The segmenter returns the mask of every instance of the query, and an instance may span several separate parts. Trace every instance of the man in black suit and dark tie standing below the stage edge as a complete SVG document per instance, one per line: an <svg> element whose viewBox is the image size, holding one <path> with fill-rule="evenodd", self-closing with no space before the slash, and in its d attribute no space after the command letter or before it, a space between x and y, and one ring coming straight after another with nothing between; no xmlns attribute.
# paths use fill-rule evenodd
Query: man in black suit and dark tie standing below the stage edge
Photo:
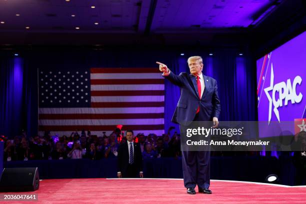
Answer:
<svg viewBox="0 0 306 204"><path fill-rule="evenodd" d="M143 177L142 154L138 143L133 142L134 133L126 131L126 142L118 148L117 176L118 178Z"/></svg>

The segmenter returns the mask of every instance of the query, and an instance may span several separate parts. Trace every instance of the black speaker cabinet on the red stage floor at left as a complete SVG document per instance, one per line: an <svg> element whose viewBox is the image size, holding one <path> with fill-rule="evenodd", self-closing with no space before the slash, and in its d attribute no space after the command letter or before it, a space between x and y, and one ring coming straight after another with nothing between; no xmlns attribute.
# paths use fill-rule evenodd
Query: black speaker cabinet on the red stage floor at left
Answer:
<svg viewBox="0 0 306 204"><path fill-rule="evenodd" d="M4 168L0 179L1 192L34 191L39 188L37 167Z"/></svg>

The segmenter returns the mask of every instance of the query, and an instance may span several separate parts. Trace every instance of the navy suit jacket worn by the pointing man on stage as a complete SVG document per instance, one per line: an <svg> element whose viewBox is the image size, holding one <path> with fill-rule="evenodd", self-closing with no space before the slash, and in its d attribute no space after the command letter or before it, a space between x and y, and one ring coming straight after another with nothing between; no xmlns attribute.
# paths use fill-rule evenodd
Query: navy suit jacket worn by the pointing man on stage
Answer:
<svg viewBox="0 0 306 204"><path fill-rule="evenodd" d="M172 122L188 125L194 119L198 105L202 121L211 121L212 117L219 117L221 107L214 78L203 75L205 88L199 98L194 75L186 72L175 75L170 71L170 74L164 77L180 87L180 97L171 119Z"/></svg>

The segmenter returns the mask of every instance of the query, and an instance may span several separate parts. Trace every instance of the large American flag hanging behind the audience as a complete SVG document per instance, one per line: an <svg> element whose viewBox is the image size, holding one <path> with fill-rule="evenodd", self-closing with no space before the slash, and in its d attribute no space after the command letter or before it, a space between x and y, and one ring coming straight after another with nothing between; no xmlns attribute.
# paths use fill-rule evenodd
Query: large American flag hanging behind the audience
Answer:
<svg viewBox="0 0 306 204"><path fill-rule="evenodd" d="M38 70L38 133L76 129L107 135L117 124L134 134L164 133L164 79L158 68Z"/></svg>

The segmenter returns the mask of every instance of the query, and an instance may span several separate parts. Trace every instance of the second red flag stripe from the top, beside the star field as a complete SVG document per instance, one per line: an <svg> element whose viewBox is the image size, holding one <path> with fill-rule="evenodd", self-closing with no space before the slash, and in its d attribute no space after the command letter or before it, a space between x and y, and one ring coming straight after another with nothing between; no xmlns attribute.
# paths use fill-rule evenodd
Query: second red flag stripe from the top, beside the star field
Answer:
<svg viewBox="0 0 306 204"><path fill-rule="evenodd" d="M90 79L92 85L96 84L163 84L163 78L137 78L137 79Z"/></svg>

